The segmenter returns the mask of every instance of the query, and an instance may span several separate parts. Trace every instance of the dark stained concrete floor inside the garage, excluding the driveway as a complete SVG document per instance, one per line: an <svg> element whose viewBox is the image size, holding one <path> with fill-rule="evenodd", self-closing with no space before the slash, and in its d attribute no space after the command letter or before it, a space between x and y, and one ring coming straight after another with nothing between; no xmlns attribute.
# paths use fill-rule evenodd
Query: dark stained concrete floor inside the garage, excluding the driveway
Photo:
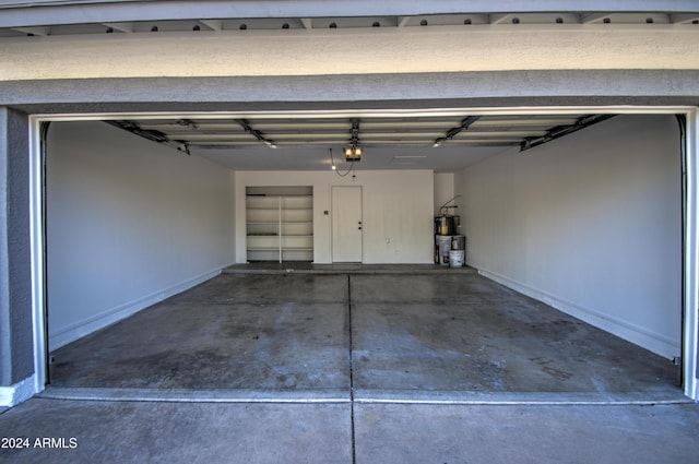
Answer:
<svg viewBox="0 0 699 464"><path fill-rule="evenodd" d="M670 360L475 273L224 274L54 356L54 390L682 395Z"/></svg>

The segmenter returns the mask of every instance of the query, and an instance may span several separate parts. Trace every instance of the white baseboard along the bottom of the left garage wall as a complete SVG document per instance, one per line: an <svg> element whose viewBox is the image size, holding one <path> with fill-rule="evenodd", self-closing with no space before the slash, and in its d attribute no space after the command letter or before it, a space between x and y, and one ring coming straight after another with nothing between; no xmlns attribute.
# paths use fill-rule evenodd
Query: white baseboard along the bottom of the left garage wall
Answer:
<svg viewBox="0 0 699 464"><path fill-rule="evenodd" d="M83 321L76 322L61 330L58 330L55 333L49 335L49 341L48 341L49 352L54 349L58 349L61 346L68 345L69 343L74 342L78 338L81 338L109 324L112 324L122 319L126 319L150 306L153 306L171 296L175 296L199 284L202 284L209 281L210 278L213 278L220 275L222 271L226 267L227 265L224 267L216 269L214 271L209 271L203 274L199 274L185 282L180 282L173 286L149 294L144 297L126 302L123 305L119 305L118 307L108 309L88 319L85 319Z"/></svg>

